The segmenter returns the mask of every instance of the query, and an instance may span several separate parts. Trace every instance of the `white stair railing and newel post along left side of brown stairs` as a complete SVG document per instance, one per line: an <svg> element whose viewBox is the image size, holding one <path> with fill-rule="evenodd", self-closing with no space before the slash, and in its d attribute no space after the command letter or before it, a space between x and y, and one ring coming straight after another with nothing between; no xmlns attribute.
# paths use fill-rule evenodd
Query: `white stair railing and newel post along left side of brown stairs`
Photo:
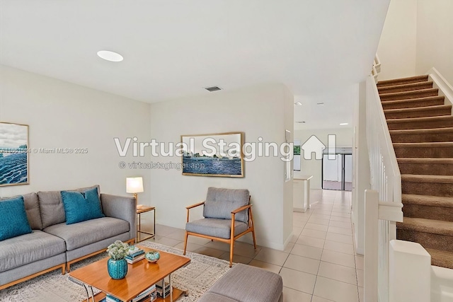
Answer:
<svg viewBox="0 0 453 302"><path fill-rule="evenodd" d="M373 71L377 72L376 64L380 65L377 56L373 67ZM389 243L390 240L396 239L396 221L403 221L401 210L403 204L401 203L401 173L376 82L377 74L372 74L366 83L367 146L371 187L374 192L369 193L372 197L365 197L364 295L366 302L388 302ZM369 209L371 206L367 209L367 197L376 199L371 210ZM375 223L378 223L377 228Z"/></svg>

